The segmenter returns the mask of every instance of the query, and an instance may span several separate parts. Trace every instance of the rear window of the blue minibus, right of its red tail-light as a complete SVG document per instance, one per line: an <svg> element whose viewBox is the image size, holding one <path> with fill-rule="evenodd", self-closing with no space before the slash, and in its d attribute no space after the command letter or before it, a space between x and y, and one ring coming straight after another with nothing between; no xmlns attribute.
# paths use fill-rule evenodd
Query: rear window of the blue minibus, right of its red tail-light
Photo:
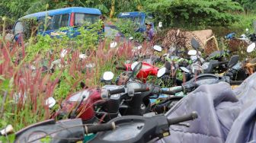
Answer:
<svg viewBox="0 0 256 143"><path fill-rule="evenodd" d="M95 14L75 14L75 26L82 26L86 22L94 24L100 19L100 15Z"/></svg>

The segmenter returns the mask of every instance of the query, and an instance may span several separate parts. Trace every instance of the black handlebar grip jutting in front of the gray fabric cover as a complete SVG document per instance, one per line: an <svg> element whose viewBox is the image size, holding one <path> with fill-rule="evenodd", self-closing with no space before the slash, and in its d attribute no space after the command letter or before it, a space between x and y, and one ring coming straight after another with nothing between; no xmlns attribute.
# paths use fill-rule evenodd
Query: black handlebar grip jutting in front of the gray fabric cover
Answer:
<svg viewBox="0 0 256 143"><path fill-rule="evenodd" d="M168 119L168 124L170 125L174 125L174 124L178 124L179 122L185 122L185 121L189 121L189 120L193 120L193 119L197 119L198 115L197 112L192 112L188 115L185 116L180 116L177 118L173 118L173 119Z"/></svg>

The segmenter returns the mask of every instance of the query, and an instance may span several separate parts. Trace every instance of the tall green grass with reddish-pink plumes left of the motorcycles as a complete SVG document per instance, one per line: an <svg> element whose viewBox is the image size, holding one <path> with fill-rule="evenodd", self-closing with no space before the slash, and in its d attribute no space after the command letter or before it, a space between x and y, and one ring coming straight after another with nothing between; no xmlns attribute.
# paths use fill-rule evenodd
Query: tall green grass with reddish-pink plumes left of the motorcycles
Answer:
<svg viewBox="0 0 256 143"><path fill-rule="evenodd" d="M27 49L30 47L0 40L0 103L3 109L0 129L11 124L18 131L48 119L51 112L45 103L48 97L54 97L57 103L61 103L68 95L81 90L80 82L88 87L101 87L100 78L104 71L113 71L118 75L120 71L116 71L114 62L123 63L134 56L133 43L120 43L117 48L111 49L109 40L103 40L86 59L79 59L81 49L69 48L67 55L61 59L61 68L55 68L54 72L42 72L42 59L47 59L48 65L51 65L54 59L59 58L61 47L57 46L51 48L53 55L35 52L34 56L30 56L34 58L27 60ZM88 64L95 66L88 68ZM29 68L31 65L36 69Z"/></svg>

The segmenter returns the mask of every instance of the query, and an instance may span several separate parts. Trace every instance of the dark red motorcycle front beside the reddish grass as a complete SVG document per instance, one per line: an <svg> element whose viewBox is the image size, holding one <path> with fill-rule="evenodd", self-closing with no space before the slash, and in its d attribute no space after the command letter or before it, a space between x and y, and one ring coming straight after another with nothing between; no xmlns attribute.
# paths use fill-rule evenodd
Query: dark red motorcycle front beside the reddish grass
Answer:
<svg viewBox="0 0 256 143"><path fill-rule="evenodd" d="M81 118L85 122L94 122L96 120L100 120L99 122L102 122L107 116L107 113L112 116L117 116L113 115L118 111L118 108L116 109L114 103L113 108L111 108L112 105L107 104L107 102L111 101L110 96L112 94L124 92L117 89L117 87L119 86L111 85L111 87L107 88L88 88L78 91L67 97L66 100L62 102L60 109L52 116L52 118ZM101 109L99 109L101 110L100 113L95 112L95 107L98 104L101 104ZM111 116L108 117L111 119Z"/></svg>

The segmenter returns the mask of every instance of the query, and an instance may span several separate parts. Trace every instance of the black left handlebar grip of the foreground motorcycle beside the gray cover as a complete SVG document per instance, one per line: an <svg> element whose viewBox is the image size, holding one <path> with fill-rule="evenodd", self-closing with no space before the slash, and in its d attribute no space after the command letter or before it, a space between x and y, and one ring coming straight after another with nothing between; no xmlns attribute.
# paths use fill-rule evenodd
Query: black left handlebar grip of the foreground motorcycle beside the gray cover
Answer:
<svg viewBox="0 0 256 143"><path fill-rule="evenodd" d="M94 126L85 126L85 134L90 134L94 132L102 132L116 129L116 125L114 122L99 124Z"/></svg>

